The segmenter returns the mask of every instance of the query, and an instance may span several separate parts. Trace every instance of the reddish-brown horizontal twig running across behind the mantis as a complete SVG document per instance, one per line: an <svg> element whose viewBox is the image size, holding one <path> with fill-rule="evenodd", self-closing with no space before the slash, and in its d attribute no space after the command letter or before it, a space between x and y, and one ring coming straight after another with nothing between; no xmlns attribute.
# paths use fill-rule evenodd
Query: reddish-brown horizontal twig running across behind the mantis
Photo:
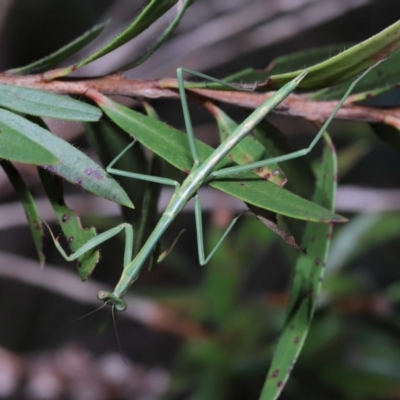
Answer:
<svg viewBox="0 0 400 400"><path fill-rule="evenodd" d="M42 74L16 76L7 73L0 74L0 83L40 89L53 93L84 96L89 89L97 90L104 95L120 95L148 99L173 98L178 99L176 90L165 87L165 82L173 86L174 79L132 80L123 75L108 75L92 79L65 79L47 81ZM254 109L260 106L273 92L254 93L244 91L224 91L211 89L190 89L203 99L233 104L239 107ZM302 117L309 121L324 121L332 113L337 101L312 101L301 95L290 95L274 112L291 117ZM370 123L385 123L400 128L400 108L373 108L357 104L346 104L336 114L336 119L362 121Z"/></svg>

